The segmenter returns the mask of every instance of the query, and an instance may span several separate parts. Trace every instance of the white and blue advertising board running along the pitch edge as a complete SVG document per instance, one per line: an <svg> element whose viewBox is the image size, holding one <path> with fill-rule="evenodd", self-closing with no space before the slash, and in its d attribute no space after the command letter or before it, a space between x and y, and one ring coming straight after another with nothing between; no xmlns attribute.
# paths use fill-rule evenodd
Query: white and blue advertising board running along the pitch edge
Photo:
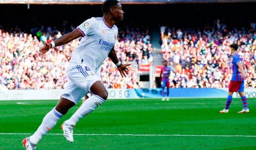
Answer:
<svg viewBox="0 0 256 150"><path fill-rule="evenodd" d="M138 99L140 97L161 98L161 88L156 89L107 89L108 99ZM2 90L0 100L58 100L63 89L54 90ZM166 91L166 89L165 89ZM246 97L256 97L256 88L246 88ZM171 98L226 98L228 88L220 89L170 89ZM240 97L234 93L233 97Z"/></svg>

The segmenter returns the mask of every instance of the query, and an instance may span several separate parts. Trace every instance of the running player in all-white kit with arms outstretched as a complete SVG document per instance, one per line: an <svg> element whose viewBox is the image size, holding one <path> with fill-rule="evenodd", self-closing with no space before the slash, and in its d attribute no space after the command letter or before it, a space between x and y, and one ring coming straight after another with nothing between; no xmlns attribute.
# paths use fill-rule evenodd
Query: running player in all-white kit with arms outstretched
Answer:
<svg viewBox="0 0 256 150"><path fill-rule="evenodd" d="M26 150L34 150L39 140L56 125L57 121L82 99L86 91L90 91L94 95L90 96L72 117L61 125L67 141L74 141L73 129L76 123L103 104L108 97L108 91L100 77L96 75L107 56L116 64L122 77L128 74L128 66L131 64L122 64L114 49L118 33L115 23L122 21L124 17L122 5L117 0L106 0L102 4L102 12L103 17L85 20L74 31L62 35L54 42L45 43L45 46L40 49L42 56L50 48L67 44L80 36L83 37L69 61L67 76L70 81L59 102L46 114L37 131L22 141Z"/></svg>

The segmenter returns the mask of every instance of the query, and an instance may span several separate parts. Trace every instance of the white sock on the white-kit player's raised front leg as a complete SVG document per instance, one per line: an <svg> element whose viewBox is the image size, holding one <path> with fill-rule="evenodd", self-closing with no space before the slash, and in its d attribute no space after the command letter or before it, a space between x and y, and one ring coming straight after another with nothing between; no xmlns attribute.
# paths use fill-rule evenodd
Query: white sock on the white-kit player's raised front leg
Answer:
<svg viewBox="0 0 256 150"><path fill-rule="evenodd" d="M84 104L76 110L75 114L73 114L70 119L66 120L66 123L75 125L81 118L84 118L86 115L90 114L90 112L94 111L95 108L97 108L104 102L105 100L98 95L93 95L89 97L84 102Z"/></svg>

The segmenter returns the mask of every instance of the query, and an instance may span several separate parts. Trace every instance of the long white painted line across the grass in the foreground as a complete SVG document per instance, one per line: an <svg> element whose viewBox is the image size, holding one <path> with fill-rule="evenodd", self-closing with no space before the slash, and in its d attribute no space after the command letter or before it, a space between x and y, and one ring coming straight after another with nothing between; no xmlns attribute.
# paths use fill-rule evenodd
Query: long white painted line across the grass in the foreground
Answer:
<svg viewBox="0 0 256 150"><path fill-rule="evenodd" d="M0 133L0 134L31 134L31 133ZM53 134L48 133L50 135L63 135L63 134ZM109 136L224 136L224 137L256 137L256 135L180 135L180 134L171 134L171 135L163 135L163 134L73 134L73 135L109 135Z"/></svg>

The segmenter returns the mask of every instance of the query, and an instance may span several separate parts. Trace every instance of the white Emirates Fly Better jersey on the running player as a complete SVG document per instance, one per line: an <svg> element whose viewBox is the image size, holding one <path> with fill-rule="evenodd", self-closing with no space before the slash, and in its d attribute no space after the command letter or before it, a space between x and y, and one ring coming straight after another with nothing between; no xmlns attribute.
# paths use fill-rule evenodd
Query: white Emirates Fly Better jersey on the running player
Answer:
<svg viewBox="0 0 256 150"><path fill-rule="evenodd" d="M111 27L106 24L103 17L91 17L76 29L84 37L74 50L67 71L77 63L81 63L83 59L89 69L96 73L116 43L118 28L115 25Z"/></svg>

